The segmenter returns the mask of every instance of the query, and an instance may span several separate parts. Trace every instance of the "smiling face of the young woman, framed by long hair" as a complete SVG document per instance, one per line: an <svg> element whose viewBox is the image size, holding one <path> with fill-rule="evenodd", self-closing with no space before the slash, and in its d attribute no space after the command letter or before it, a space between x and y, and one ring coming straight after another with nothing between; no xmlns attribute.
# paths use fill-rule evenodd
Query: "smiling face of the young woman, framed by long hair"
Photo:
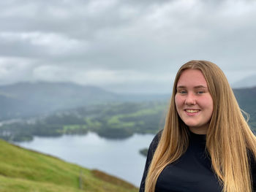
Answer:
<svg viewBox="0 0 256 192"><path fill-rule="evenodd" d="M195 134L206 134L214 110L211 94L203 73L186 69L181 73L175 96L176 110L181 120Z"/></svg>

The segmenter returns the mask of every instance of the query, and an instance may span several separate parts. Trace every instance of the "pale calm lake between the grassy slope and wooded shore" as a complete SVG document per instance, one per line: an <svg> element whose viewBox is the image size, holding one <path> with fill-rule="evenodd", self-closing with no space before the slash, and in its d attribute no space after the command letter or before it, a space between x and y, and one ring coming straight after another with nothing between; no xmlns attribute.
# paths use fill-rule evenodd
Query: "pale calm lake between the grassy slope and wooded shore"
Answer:
<svg viewBox="0 0 256 192"><path fill-rule="evenodd" d="M128 139L105 139L89 132L83 136L34 137L31 142L15 144L89 169L99 169L139 186L146 162L139 150L148 147L153 137L134 134Z"/></svg>

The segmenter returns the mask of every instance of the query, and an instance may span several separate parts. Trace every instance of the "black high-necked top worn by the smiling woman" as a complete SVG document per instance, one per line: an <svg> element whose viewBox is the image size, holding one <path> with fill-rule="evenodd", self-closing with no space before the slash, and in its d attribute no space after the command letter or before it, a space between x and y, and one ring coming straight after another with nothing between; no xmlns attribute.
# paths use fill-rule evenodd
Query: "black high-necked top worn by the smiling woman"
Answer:
<svg viewBox="0 0 256 192"><path fill-rule="evenodd" d="M140 192L144 192L148 166L153 158L161 132L154 137L148 149L146 166L140 183ZM256 189L256 164L252 161L253 187ZM189 147L177 161L168 164L159 174L155 192L221 192L217 176L211 169L211 158L206 151L206 135L189 131Z"/></svg>

